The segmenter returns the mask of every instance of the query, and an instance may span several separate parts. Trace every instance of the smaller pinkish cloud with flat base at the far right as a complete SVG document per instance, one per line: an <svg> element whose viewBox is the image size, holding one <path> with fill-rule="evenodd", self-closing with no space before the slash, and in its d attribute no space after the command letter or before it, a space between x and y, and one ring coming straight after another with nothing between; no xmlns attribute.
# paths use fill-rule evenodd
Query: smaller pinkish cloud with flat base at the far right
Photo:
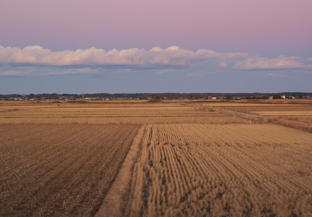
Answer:
<svg viewBox="0 0 312 217"><path fill-rule="evenodd" d="M312 68L312 65L305 65L299 59L299 57L285 55L274 59L251 55L246 60L236 62L233 68L241 70Z"/></svg>

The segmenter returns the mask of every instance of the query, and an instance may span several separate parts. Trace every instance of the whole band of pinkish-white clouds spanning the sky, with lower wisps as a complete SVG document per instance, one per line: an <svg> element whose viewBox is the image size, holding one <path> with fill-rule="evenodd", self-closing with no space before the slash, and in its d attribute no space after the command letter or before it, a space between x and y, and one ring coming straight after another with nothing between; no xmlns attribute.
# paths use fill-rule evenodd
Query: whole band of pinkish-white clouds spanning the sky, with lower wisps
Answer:
<svg viewBox="0 0 312 217"><path fill-rule="evenodd" d="M311 59L308 59L311 61ZM208 63L210 63L210 65ZM32 68L13 69L25 65ZM196 52L171 46L166 49L154 47L150 50L131 48L124 50L88 48L76 51L65 50L52 52L41 46L17 47L0 46L0 66L9 65L0 71L0 76L40 75L34 67L45 67L41 74L98 74L98 69L113 70L163 70L181 69L190 66L206 68L228 68L233 70L275 70L275 69L312 69L312 65L303 63L299 57L264 58L248 53L225 53L199 49ZM213 65L213 66L211 66ZM77 70L56 70L59 68L77 68ZM47 69L49 68L49 69ZM0 68L1 69L1 68ZM104 71L105 71L104 70ZM191 76L192 74L189 74Z"/></svg>

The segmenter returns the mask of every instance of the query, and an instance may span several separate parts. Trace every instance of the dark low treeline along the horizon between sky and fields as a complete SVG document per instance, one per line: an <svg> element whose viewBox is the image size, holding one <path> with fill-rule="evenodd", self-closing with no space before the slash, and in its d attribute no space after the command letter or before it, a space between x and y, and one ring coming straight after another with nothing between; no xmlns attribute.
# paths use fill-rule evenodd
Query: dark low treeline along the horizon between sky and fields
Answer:
<svg viewBox="0 0 312 217"><path fill-rule="evenodd" d="M85 94L69 94L69 93L40 93L40 94L0 94L2 100L5 99L79 99L79 98L94 98L94 99L104 99L104 98L168 98L168 99L178 99L178 98L244 98L244 99L267 99L270 96L282 96L287 97L307 97L312 96L312 93L305 92L282 92L282 93L85 93Z"/></svg>

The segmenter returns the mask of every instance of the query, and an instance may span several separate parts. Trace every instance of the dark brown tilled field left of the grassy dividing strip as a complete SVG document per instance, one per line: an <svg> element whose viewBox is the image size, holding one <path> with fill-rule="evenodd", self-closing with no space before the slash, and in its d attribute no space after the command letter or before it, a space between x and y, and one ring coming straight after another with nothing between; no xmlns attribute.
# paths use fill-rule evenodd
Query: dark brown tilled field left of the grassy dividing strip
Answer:
<svg viewBox="0 0 312 217"><path fill-rule="evenodd" d="M93 216L139 125L0 125L0 216Z"/></svg>

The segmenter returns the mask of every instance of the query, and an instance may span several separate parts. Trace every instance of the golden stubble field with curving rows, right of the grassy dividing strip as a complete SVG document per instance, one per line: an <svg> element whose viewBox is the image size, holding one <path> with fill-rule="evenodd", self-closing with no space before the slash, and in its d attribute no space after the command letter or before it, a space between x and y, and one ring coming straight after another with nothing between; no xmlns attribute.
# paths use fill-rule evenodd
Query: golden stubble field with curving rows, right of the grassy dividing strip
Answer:
<svg viewBox="0 0 312 217"><path fill-rule="evenodd" d="M310 216L312 134L269 124L149 124L127 216Z"/></svg>

